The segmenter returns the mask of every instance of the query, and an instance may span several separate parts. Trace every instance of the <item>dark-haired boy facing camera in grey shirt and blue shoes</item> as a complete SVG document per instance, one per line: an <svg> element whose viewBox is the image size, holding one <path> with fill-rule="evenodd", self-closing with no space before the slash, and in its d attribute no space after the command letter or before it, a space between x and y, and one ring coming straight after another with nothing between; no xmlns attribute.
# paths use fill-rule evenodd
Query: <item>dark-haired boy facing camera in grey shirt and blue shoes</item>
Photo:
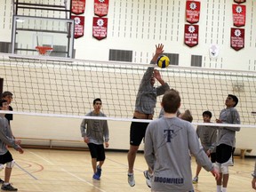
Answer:
<svg viewBox="0 0 256 192"><path fill-rule="evenodd" d="M100 111L101 107L102 102L100 98L93 100L94 110L86 114L86 116L105 116L105 114ZM80 126L80 130L82 137L84 137L84 142L87 143L92 156L92 178L94 180L100 180L101 167L106 158L103 145L104 142L106 148L108 148L108 122L107 120L84 119ZM97 165L97 162L100 163Z"/></svg>

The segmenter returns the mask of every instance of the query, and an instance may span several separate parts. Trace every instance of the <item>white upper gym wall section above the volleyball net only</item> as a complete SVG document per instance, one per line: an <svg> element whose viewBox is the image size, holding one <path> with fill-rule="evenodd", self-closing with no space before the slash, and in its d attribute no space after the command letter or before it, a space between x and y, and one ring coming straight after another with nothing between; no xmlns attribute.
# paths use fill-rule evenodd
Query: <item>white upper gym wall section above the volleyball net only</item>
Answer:
<svg viewBox="0 0 256 192"><path fill-rule="evenodd" d="M60 4L61 1L44 0L44 4L58 4L58 2ZM108 36L100 41L92 37L93 2L86 1L85 4L84 36L75 40L76 59L108 60L109 49L115 49L132 51L132 62L148 63L155 51L155 44L162 43L165 45L165 52L180 55L180 66L190 66L191 55L201 55L204 68L241 70L256 68L254 53L256 2L253 0L244 3L246 5L246 21L243 27L245 43L244 49L238 52L230 47L230 28L234 28L232 19L234 1L200 1L200 20L197 23L199 42L192 48L184 44L184 25L188 24L185 19L185 0L111 0L107 16ZM4 0L2 4L0 41L11 42L12 0ZM217 60L210 59L211 44L219 46L220 55Z"/></svg>

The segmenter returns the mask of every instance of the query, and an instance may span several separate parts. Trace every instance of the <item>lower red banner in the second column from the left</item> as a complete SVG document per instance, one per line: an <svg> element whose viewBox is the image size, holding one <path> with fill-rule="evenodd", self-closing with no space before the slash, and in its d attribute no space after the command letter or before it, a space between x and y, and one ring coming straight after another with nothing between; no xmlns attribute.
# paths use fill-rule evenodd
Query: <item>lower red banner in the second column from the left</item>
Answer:
<svg viewBox="0 0 256 192"><path fill-rule="evenodd" d="M93 17L92 36L101 40L107 37L108 18Z"/></svg>

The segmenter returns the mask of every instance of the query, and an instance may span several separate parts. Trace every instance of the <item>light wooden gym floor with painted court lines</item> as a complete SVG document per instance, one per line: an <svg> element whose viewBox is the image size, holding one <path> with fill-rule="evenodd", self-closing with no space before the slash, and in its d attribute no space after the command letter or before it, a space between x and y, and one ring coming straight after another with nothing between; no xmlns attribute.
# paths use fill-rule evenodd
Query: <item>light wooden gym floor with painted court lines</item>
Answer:
<svg viewBox="0 0 256 192"><path fill-rule="evenodd" d="M91 156L88 151L25 148L23 155L10 148L16 165L11 182L21 192L144 192L150 191L143 171L147 164L139 153L135 162L135 187L127 183L127 153L107 151L101 180L92 180ZM253 192L251 187L254 158L235 156L230 167L228 192ZM192 171L196 171L192 157ZM4 177L4 172L0 172ZM192 180L192 178L191 178ZM210 172L202 170L196 192L215 192L215 180Z"/></svg>

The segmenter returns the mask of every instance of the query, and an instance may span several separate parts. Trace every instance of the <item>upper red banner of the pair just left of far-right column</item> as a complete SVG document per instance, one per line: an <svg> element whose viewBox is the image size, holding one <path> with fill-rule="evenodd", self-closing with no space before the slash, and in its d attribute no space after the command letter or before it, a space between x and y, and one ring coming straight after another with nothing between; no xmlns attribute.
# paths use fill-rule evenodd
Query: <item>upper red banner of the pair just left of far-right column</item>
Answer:
<svg viewBox="0 0 256 192"><path fill-rule="evenodd" d="M186 3L186 20L189 23L196 23L200 16L200 2L187 1Z"/></svg>

